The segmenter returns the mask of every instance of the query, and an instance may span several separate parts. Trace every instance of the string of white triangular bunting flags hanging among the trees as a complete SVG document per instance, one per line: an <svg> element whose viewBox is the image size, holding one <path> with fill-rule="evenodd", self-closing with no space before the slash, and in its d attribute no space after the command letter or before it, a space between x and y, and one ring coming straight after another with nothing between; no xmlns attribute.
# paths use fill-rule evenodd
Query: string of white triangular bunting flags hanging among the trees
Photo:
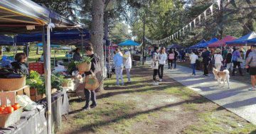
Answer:
<svg viewBox="0 0 256 134"><path fill-rule="evenodd" d="M228 0L228 2L230 2L230 0ZM221 4L221 0L216 0L215 3L213 3L212 5L210 5L205 11L203 11L203 13L201 13L198 17L194 18L193 21L191 21L190 23L188 23L188 25L183 26L183 28L181 28L180 30L177 30L176 33L170 35L167 38L161 39L161 40L150 40L149 38L145 37L145 40L151 44L157 44L157 45L161 45L164 43L169 43L171 40L175 40L178 39L179 36L181 35L185 35L186 30L188 30L188 27L190 28L190 30L192 30L192 23L193 23L193 27L196 28L196 21L198 20L198 23L201 24L201 18L202 16L204 16L204 18L207 20L207 11L210 10L210 15L213 16L213 6L214 4L217 4L218 9L220 10L220 4Z"/></svg>

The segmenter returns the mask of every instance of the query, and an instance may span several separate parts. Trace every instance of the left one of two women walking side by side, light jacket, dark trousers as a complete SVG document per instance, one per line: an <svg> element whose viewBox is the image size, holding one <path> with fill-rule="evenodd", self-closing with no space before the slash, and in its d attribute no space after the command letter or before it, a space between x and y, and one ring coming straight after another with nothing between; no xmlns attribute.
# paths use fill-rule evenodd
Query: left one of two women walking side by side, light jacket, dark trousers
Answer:
<svg viewBox="0 0 256 134"><path fill-rule="evenodd" d="M153 85L159 85L159 82L156 82L156 75L159 69L159 47L154 48L154 52L151 59L151 68L153 69Z"/></svg>

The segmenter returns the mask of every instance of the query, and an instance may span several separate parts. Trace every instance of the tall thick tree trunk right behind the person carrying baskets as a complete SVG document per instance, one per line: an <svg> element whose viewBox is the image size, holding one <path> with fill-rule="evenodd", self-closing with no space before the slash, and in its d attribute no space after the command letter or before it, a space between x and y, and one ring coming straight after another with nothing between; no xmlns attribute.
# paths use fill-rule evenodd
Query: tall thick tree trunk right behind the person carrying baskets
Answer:
<svg viewBox="0 0 256 134"><path fill-rule="evenodd" d="M92 30L91 41L95 50L95 54L100 57L100 67L104 69L104 54L103 54L103 16L104 16L104 0L92 1ZM97 79L100 82L100 87L97 91L103 89L103 73L97 74Z"/></svg>

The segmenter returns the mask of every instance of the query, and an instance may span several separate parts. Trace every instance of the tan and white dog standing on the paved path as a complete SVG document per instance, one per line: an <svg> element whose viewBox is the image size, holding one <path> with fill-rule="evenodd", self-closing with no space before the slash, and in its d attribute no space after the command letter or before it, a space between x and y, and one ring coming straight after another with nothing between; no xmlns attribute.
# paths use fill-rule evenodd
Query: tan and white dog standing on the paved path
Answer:
<svg viewBox="0 0 256 134"><path fill-rule="evenodd" d="M218 84L220 85L220 81L223 81L225 85L225 81L228 83L228 89L230 89L230 75L228 69L224 69L223 72L219 72L218 69L213 68L213 74L215 79L217 79Z"/></svg>

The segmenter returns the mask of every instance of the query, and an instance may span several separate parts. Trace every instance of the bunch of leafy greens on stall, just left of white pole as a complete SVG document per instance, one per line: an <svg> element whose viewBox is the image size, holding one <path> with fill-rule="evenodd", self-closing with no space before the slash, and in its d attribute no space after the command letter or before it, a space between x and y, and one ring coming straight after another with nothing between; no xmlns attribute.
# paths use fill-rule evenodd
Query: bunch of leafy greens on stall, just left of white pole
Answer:
<svg viewBox="0 0 256 134"><path fill-rule="evenodd" d="M30 76L28 77L28 79L26 79L26 84L28 84L32 88L37 89L38 94L46 93L43 77L41 77L41 75L36 71L31 71Z"/></svg>

